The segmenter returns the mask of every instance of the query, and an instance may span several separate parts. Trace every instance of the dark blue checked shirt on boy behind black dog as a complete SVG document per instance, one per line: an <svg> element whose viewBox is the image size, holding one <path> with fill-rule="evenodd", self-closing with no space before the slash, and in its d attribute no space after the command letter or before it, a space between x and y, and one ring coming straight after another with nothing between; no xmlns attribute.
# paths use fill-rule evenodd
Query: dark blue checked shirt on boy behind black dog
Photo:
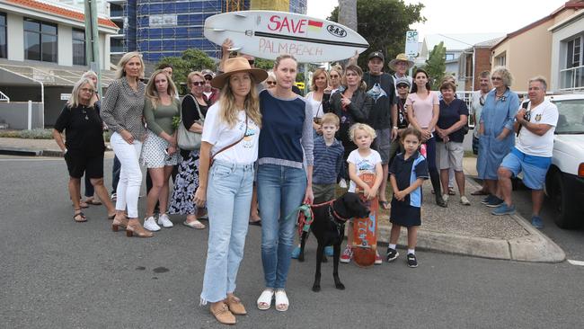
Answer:
<svg viewBox="0 0 584 329"><path fill-rule="evenodd" d="M336 183L337 176L341 172L345 147L342 147L341 142L336 138L332 141L332 145L327 147L324 138L317 136L314 138L313 153L313 183L322 185Z"/></svg>

